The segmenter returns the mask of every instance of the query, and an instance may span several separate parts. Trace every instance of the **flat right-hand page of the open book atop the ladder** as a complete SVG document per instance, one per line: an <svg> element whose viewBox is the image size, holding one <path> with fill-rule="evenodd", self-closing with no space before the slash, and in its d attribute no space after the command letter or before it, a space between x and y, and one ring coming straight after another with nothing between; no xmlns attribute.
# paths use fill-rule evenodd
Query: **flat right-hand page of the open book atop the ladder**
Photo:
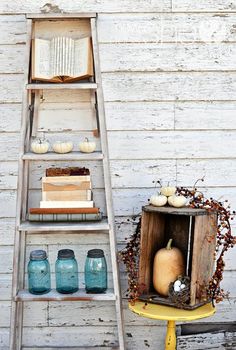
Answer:
<svg viewBox="0 0 236 350"><path fill-rule="evenodd" d="M90 55L91 42L90 38L75 40L75 57L74 57L74 77L90 74Z"/></svg>

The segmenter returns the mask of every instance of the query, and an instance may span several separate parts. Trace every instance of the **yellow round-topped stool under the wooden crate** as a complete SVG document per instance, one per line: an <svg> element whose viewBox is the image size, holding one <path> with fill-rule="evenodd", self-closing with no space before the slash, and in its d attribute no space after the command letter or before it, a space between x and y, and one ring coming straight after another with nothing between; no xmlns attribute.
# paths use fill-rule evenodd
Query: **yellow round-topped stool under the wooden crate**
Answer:
<svg viewBox="0 0 236 350"><path fill-rule="evenodd" d="M153 318L154 320L165 320L167 322L165 350L176 349L175 321L193 321L209 317L215 313L212 304L200 306L195 310L182 310L170 306L148 303L145 306L143 301L136 301L134 305L129 304L130 310L136 314Z"/></svg>

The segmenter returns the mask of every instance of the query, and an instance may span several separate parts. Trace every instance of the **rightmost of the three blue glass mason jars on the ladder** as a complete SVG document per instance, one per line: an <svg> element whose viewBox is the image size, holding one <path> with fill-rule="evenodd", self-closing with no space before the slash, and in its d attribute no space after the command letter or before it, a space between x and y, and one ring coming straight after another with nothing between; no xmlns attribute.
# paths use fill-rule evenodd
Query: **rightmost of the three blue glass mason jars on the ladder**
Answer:
<svg viewBox="0 0 236 350"><path fill-rule="evenodd" d="M91 249L85 261L87 293L104 293L107 289L107 264L102 249Z"/></svg>

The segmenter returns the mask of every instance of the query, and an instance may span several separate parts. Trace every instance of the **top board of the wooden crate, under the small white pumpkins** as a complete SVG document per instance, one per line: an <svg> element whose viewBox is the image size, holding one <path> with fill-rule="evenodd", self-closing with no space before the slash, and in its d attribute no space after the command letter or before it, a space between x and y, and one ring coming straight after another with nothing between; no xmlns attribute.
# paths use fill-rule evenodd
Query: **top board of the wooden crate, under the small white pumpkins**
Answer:
<svg viewBox="0 0 236 350"><path fill-rule="evenodd" d="M162 213L162 214L173 214L173 215L187 215L187 216L198 216L207 215L205 209L194 209L194 208L173 208L173 207L154 207L153 205L147 205L142 208L145 212L150 213Z"/></svg>

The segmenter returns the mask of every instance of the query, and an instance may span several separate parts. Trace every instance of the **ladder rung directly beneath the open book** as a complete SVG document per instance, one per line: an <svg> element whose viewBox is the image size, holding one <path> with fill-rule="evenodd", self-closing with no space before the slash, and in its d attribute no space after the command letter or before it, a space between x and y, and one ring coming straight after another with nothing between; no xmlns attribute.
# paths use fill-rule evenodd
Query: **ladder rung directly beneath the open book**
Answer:
<svg viewBox="0 0 236 350"><path fill-rule="evenodd" d="M96 90L97 84L96 83L51 83L51 84L44 84L44 83L38 83L38 84L27 84L26 85L27 90Z"/></svg>

